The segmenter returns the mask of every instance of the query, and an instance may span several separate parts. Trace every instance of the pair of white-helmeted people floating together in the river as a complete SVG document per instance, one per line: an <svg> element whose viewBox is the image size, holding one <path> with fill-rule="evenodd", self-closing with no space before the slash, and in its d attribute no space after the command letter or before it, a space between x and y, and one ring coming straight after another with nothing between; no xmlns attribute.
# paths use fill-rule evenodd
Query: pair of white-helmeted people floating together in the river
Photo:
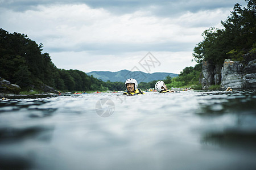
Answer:
<svg viewBox="0 0 256 170"><path fill-rule="evenodd" d="M138 82L135 79L127 79L125 81L126 92L123 95L144 95L145 93L138 88ZM155 90L159 93L170 93L175 92L173 90L168 90L166 84L162 80L155 83Z"/></svg>

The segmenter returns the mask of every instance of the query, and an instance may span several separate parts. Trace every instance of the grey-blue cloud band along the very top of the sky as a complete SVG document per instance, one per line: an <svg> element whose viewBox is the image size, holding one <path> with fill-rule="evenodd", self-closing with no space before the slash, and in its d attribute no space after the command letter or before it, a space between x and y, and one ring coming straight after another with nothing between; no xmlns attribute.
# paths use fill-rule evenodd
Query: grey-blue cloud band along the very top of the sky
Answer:
<svg viewBox="0 0 256 170"><path fill-rule="evenodd" d="M235 3L246 5L244 0L2 0L0 1L0 6L1 8L11 8L15 11L26 11L34 10L38 5L81 3L85 3L92 8L104 8L114 14L126 14L137 10L145 10L159 16L178 15L184 11L197 12L200 10L213 10L216 8L230 8L233 7Z"/></svg>

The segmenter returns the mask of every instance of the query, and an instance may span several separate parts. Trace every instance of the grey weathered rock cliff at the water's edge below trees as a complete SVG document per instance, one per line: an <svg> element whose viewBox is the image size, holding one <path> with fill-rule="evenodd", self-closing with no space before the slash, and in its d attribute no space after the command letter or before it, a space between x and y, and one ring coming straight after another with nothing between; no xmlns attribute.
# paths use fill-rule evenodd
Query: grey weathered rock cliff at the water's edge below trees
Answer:
<svg viewBox="0 0 256 170"><path fill-rule="evenodd" d="M256 53L243 57L243 63L225 59L222 66L203 62L202 88L208 89L213 84L220 84L221 88L256 88Z"/></svg>

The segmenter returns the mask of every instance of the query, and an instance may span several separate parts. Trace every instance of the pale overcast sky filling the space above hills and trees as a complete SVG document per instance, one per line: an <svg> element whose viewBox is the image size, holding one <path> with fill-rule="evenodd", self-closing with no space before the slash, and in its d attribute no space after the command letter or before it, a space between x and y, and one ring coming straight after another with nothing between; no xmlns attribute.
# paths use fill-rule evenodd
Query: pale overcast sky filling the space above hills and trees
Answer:
<svg viewBox="0 0 256 170"><path fill-rule="evenodd" d="M246 5L244 0L0 0L0 28L42 43L60 69L179 74L195 66L192 53L201 33L222 28L236 3Z"/></svg>

